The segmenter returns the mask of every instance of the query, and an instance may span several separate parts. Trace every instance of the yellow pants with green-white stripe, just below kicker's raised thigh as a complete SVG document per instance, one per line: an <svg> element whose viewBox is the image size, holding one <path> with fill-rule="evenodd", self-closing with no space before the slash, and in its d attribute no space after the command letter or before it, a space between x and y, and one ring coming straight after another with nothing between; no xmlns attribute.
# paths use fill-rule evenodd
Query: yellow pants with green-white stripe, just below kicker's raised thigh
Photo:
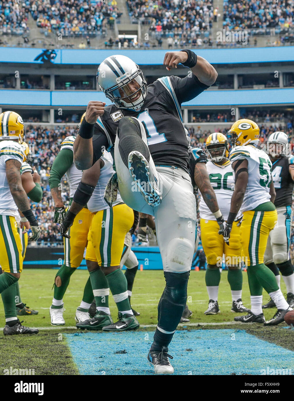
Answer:
<svg viewBox="0 0 294 401"><path fill-rule="evenodd" d="M88 235L86 259L97 261L103 267L119 266L125 235L133 223L133 209L125 204L95 213Z"/></svg>

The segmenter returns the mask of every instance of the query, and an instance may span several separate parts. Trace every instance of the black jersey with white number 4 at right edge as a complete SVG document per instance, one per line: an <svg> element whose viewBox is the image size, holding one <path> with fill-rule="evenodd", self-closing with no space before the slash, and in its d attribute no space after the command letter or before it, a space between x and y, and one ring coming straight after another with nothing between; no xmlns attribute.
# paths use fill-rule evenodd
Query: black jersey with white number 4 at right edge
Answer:
<svg viewBox="0 0 294 401"><path fill-rule="evenodd" d="M272 179L276 190L274 205L288 206L292 204L294 181L289 173L289 164L294 164L294 156L284 156L272 164Z"/></svg>

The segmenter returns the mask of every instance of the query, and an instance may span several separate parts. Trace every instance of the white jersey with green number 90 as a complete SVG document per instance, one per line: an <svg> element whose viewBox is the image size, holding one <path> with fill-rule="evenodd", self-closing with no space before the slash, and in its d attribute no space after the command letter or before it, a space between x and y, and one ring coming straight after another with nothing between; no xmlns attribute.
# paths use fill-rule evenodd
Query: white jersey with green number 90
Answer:
<svg viewBox="0 0 294 401"><path fill-rule="evenodd" d="M209 160L206 164L206 169L217 198L219 210L222 212L224 219L228 220L235 186L235 172L232 169L232 164L227 162L225 165L219 166ZM201 219L216 221L216 218L203 201L203 198L201 198L199 203L199 212Z"/></svg>

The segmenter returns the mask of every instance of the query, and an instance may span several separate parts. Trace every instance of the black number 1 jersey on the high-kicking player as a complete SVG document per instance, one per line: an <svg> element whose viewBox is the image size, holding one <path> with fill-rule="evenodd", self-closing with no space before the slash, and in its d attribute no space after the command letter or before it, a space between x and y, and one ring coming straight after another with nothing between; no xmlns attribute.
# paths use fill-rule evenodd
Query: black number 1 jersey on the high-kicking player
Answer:
<svg viewBox="0 0 294 401"><path fill-rule="evenodd" d="M148 147L155 166L176 166L189 172L188 143L181 117L181 103L207 89L191 74L185 78L162 77L148 85L147 96L140 111L105 107L95 124L93 164L101 157L103 146L108 150L115 142L119 120L123 116L138 118L145 128Z"/></svg>

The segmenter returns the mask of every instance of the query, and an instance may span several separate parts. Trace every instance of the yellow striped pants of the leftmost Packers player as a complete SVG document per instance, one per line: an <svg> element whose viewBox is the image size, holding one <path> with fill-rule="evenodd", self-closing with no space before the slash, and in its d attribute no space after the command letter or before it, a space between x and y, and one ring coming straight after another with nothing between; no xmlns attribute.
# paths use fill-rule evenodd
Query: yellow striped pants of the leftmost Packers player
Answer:
<svg viewBox="0 0 294 401"><path fill-rule="evenodd" d="M15 217L0 215L0 267L3 271L22 271L22 244Z"/></svg>

